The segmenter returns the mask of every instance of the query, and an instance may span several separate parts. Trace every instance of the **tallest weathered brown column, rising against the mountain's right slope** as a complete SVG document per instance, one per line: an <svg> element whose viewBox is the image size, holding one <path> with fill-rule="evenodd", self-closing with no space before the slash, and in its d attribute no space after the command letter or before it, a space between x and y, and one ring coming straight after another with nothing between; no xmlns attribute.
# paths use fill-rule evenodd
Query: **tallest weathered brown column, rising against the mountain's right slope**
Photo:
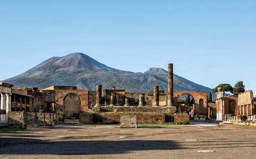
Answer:
<svg viewBox="0 0 256 159"><path fill-rule="evenodd" d="M168 105L173 106L173 64L168 64Z"/></svg>

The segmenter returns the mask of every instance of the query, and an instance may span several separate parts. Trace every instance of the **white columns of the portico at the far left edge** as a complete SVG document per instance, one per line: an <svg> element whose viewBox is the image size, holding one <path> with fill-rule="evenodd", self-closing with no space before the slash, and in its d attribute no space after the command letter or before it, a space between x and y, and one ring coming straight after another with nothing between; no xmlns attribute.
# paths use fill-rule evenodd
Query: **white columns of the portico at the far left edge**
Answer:
<svg viewBox="0 0 256 159"><path fill-rule="evenodd" d="M8 120L8 112L11 112L11 94L1 92L0 122L5 123Z"/></svg>

